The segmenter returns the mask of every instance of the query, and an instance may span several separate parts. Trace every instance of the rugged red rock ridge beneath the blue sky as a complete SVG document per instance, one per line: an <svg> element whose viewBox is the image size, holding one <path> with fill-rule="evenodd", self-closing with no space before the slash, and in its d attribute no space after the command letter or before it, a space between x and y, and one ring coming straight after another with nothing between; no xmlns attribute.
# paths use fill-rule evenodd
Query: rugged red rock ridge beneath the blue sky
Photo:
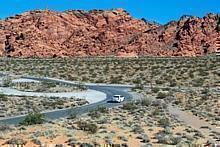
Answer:
<svg viewBox="0 0 220 147"><path fill-rule="evenodd" d="M125 10L30 11L0 21L0 56L200 56L215 51L218 16L166 25Z"/></svg>

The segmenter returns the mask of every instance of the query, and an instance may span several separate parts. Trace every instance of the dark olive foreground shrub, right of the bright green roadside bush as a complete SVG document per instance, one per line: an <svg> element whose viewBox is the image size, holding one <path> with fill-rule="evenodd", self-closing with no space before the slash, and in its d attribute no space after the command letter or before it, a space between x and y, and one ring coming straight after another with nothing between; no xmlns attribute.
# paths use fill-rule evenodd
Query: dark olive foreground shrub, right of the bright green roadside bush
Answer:
<svg viewBox="0 0 220 147"><path fill-rule="evenodd" d="M92 134L94 134L98 131L98 126L96 124L87 123L87 122L84 122L84 121L78 121L77 122L77 127L80 130L87 131L87 132L90 132Z"/></svg>

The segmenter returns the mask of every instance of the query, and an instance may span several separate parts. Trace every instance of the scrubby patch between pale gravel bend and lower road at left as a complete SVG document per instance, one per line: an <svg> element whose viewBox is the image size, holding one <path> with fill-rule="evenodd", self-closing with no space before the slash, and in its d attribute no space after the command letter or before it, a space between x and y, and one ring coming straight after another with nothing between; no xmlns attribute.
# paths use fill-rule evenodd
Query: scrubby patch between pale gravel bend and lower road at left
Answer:
<svg viewBox="0 0 220 147"><path fill-rule="evenodd" d="M6 96L4 94L0 94L0 101L0 117L28 114L29 112L35 111L74 108L88 103L85 99L77 99L74 97Z"/></svg>

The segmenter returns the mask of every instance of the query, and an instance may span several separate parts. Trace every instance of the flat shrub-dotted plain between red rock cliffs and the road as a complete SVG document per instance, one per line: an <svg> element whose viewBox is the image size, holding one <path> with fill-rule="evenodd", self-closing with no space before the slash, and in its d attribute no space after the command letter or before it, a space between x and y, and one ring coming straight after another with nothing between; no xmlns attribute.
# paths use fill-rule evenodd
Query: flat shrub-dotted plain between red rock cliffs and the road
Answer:
<svg viewBox="0 0 220 147"><path fill-rule="evenodd" d="M0 59L0 70L59 79L157 87L214 86L219 57ZM73 66L74 65L74 66ZM47 70L45 70L47 69ZM98 77L98 78L97 78ZM141 79L141 80L140 80ZM84 88L79 83L79 87Z"/></svg>

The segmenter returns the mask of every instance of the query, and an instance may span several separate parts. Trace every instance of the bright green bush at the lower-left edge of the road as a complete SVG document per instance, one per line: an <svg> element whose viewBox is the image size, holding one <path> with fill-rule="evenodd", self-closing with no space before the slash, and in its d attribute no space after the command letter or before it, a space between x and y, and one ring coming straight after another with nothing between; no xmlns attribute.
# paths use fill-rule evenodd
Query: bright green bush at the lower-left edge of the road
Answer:
<svg viewBox="0 0 220 147"><path fill-rule="evenodd" d="M35 125L42 124L44 122L44 115L41 113L29 113L25 119L21 122L21 125Z"/></svg>

